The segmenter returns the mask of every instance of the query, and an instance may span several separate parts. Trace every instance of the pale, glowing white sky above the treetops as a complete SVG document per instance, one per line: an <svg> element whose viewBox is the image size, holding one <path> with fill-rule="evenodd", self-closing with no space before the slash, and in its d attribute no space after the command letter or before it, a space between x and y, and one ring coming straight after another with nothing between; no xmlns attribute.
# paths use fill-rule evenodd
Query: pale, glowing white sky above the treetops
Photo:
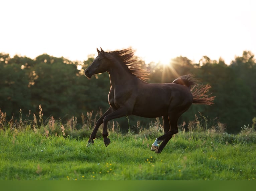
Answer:
<svg viewBox="0 0 256 191"><path fill-rule="evenodd" d="M2 0L0 52L84 61L132 47L149 62L256 54L255 0Z"/></svg>

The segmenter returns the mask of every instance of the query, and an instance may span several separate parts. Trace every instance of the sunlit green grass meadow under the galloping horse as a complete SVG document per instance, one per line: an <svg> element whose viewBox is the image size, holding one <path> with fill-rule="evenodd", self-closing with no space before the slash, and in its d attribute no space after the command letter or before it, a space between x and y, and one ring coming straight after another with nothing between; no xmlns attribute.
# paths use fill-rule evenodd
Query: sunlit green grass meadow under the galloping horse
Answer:
<svg viewBox="0 0 256 191"><path fill-rule="evenodd" d="M21 123L21 122L20 122ZM54 127L55 125L55 127ZM0 180L255 180L256 133L180 131L161 154L150 151L157 127L138 134L109 129L87 147L91 129L50 123L0 129ZM56 128L56 125L59 128ZM66 133L65 133L66 132Z"/></svg>

